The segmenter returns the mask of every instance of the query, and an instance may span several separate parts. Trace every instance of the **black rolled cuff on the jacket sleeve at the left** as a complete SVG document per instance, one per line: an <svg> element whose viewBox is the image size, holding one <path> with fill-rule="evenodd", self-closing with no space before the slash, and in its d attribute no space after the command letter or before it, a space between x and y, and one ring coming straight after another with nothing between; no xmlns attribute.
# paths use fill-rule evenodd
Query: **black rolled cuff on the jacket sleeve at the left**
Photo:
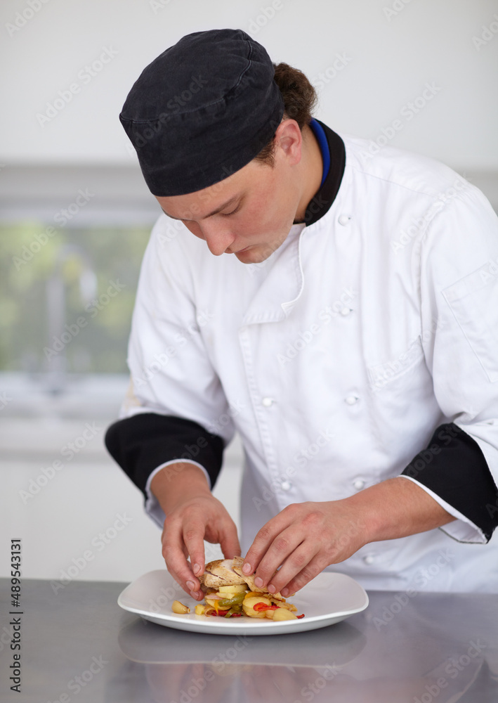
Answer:
<svg viewBox="0 0 498 703"><path fill-rule="evenodd" d="M207 471L212 488L221 470L224 442L192 420L140 413L111 425L105 433L105 446L147 498L145 486L150 474L173 459L199 463Z"/></svg>

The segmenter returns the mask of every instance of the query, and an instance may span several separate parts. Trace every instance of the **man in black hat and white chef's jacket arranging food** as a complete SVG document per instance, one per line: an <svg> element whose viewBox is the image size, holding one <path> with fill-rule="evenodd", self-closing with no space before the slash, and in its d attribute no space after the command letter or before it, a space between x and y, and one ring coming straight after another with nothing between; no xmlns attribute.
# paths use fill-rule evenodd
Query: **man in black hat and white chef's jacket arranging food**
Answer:
<svg viewBox="0 0 498 703"><path fill-rule="evenodd" d="M183 37L120 120L164 214L112 456L202 598L204 540L259 586L497 591L498 226L444 165L336 134L242 30ZM241 539L211 494L244 448Z"/></svg>

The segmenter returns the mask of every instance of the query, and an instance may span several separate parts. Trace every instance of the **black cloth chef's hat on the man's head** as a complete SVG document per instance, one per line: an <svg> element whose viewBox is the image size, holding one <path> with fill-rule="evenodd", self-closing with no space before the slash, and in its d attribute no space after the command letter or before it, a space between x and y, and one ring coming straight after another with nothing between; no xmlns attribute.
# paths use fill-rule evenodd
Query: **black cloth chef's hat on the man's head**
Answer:
<svg viewBox="0 0 498 703"><path fill-rule="evenodd" d="M119 115L151 193L200 191L254 159L284 112L274 75L242 30L187 34L152 61Z"/></svg>

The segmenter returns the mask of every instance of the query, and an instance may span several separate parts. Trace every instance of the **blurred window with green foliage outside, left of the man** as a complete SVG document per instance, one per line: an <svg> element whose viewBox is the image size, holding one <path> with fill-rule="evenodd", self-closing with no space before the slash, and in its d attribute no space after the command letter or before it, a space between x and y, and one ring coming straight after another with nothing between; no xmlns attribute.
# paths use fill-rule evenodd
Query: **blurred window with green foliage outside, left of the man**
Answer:
<svg viewBox="0 0 498 703"><path fill-rule="evenodd" d="M42 373L58 364L70 373L126 373L131 314L149 236L148 226L55 231L40 222L1 224L0 370ZM55 280L59 292L53 305L48 286ZM55 314L60 303L62 316ZM56 332L54 321L62 320Z"/></svg>

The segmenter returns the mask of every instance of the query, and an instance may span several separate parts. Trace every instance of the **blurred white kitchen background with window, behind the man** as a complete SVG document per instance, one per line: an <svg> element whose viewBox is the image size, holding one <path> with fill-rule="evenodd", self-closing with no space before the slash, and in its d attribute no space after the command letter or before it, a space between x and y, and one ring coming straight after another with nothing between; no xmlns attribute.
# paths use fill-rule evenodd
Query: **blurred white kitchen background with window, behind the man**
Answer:
<svg viewBox="0 0 498 703"><path fill-rule="evenodd" d="M308 75L330 127L442 160L496 209L498 2L4 0L0 18L0 576L22 538L25 577L130 581L164 566L103 446L159 216L118 120L131 85L184 34L240 27ZM236 522L241 459L236 438L216 487Z"/></svg>

